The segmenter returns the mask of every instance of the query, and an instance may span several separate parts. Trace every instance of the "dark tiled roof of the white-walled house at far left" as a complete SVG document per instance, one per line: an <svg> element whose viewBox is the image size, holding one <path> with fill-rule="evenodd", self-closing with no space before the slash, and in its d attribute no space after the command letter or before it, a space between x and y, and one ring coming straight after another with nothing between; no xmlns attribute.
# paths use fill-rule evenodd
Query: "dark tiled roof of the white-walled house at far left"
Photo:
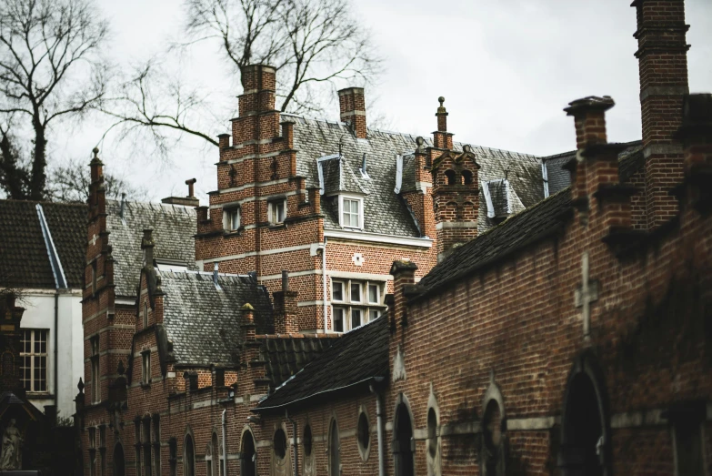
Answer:
<svg viewBox="0 0 712 476"><path fill-rule="evenodd" d="M37 204L70 289L84 287L86 217L83 204L0 200L0 286L55 289Z"/></svg>

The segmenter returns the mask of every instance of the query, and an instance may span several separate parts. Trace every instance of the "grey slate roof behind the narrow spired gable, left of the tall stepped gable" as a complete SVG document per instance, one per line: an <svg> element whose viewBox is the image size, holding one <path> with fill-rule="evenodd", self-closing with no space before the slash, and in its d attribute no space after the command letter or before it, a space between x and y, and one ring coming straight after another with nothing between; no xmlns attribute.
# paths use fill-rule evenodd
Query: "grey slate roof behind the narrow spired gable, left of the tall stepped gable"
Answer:
<svg viewBox="0 0 712 476"><path fill-rule="evenodd" d="M197 229L195 208L154 203L106 200L106 229L115 259L114 282L116 296L135 297L138 286L136 269L143 266L142 231L153 229L154 258L169 260L188 269L196 269ZM160 266L160 265L159 265Z"/></svg>

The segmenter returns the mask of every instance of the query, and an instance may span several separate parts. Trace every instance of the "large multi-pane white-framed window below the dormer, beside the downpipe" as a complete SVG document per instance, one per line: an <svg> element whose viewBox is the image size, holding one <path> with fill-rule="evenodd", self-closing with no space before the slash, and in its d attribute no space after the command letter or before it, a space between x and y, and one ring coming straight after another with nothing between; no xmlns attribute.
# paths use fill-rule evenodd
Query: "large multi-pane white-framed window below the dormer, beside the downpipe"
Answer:
<svg viewBox="0 0 712 476"><path fill-rule="evenodd" d="M383 305L384 281L331 280L332 330L347 332L377 319Z"/></svg>

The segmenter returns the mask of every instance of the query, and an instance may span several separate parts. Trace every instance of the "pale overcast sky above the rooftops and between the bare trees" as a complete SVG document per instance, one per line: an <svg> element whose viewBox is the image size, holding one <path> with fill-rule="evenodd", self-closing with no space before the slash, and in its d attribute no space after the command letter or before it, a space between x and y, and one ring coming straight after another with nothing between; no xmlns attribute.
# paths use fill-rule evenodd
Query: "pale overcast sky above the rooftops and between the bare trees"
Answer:
<svg viewBox="0 0 712 476"><path fill-rule="evenodd" d="M178 0L99 0L113 32L118 65L159 55L179 35ZM630 0L358 0L356 14L373 34L386 71L366 89L388 129L426 136L445 96L456 140L545 156L575 147L573 120L562 108L582 96L612 96L610 141L640 138L635 9ZM688 0L691 92L712 91L712 1ZM201 46L186 71L232 110L241 90L216 47ZM183 66L182 66L183 67ZM223 97L224 96L224 97ZM229 108L228 108L229 109ZM230 115L223 131L229 131ZM337 107L327 118L338 117ZM90 157L106 125L98 119L55 136L55 157ZM62 132L62 131L55 131ZM65 137L60 139L59 136ZM108 135L108 170L146 187L148 197L199 196L216 188L217 151L183 140L168 161Z"/></svg>

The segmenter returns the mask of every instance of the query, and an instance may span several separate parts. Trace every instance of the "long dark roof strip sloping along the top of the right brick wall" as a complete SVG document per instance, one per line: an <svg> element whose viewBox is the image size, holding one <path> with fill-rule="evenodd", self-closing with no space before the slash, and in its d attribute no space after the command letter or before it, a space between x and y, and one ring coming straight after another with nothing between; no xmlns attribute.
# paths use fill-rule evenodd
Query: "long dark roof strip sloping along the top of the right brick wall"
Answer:
<svg viewBox="0 0 712 476"><path fill-rule="evenodd" d="M565 188L456 248L420 280L420 297L463 279L539 239L558 233L569 217L570 209L571 191Z"/></svg>

